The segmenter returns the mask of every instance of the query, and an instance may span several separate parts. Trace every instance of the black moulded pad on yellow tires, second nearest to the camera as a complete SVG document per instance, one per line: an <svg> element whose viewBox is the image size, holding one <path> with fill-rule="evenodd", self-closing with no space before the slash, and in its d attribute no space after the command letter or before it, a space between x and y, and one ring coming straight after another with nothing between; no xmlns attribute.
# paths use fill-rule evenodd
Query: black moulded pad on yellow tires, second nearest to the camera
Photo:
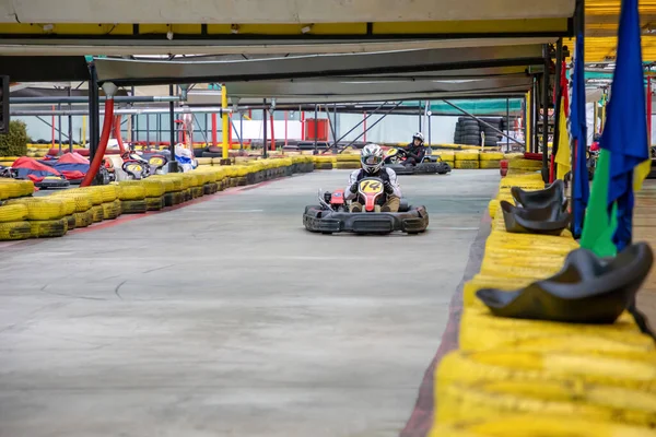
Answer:
<svg viewBox="0 0 656 437"><path fill-rule="evenodd" d="M543 208L517 208L505 200L501 201L506 231L514 234L561 235L572 218L565 204L559 200Z"/></svg>

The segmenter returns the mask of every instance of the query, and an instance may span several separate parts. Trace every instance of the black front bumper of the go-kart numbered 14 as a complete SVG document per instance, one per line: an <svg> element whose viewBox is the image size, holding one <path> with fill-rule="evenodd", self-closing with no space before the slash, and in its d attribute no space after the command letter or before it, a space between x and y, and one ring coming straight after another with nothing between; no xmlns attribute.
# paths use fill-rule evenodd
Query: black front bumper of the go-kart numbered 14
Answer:
<svg viewBox="0 0 656 437"><path fill-rule="evenodd" d="M389 234L396 231L417 234L429 226L429 213L424 206L395 213L349 213L307 206L303 214L303 225L309 232L325 234Z"/></svg>

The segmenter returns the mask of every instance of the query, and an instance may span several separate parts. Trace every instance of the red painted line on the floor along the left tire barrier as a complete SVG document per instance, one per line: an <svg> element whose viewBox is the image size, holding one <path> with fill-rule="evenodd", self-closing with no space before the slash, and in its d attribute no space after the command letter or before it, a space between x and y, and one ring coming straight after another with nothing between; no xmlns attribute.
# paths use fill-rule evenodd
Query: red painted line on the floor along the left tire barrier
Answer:
<svg viewBox="0 0 656 437"><path fill-rule="evenodd" d="M143 218L143 217L149 217L152 215L157 215L157 214L163 214L169 211L176 211L186 206L190 206L190 205L195 205L198 203L203 203L203 202L208 202L212 199L216 199L220 197L225 197L225 196L235 196L235 194L239 194L244 191L247 190L254 190L256 188L260 188L260 187L266 187L270 184L273 184L278 180L281 180L283 178L278 178L278 179L272 179L272 180L265 180L263 182L259 182L259 184L254 184L250 186L246 186L246 187L232 187L232 188L227 188L223 191L218 191L214 194L207 194L203 196L201 198L198 199L194 199L190 200L188 202L184 202L174 206L166 206L164 209L162 209L161 211L148 211L145 213L142 214L130 214L130 215L121 215L118 218L114 218L114 220L108 220L108 221L103 221L101 223L96 223L96 224L92 224L87 227L81 227L79 229L73 229L69 233L67 233L67 235L77 235L77 234L84 234L84 233L89 233L89 232L94 232L94 231L101 231L101 229L106 229L108 227L114 227L124 223L128 223L128 222L132 222L139 218ZM43 241L47 241L50 240L52 238L39 238L39 239L26 239L26 240L20 240L20 241L1 241L0 243L0 249L4 249L4 248L10 248L10 247L25 247L25 246L34 246L36 244L43 243Z"/></svg>

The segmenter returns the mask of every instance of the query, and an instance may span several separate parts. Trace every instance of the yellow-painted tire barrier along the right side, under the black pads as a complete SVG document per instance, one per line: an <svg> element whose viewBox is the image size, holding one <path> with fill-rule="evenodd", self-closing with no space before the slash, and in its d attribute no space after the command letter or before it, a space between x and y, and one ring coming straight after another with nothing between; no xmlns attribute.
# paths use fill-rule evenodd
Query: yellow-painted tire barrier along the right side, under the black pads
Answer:
<svg viewBox="0 0 656 437"><path fill-rule="evenodd" d="M513 186L544 187L538 174L507 176L490 202L481 270L464 288L459 350L434 374L430 436L656 436L656 346L628 312L607 326L511 319L476 297L551 276L578 247L569 231L506 233L499 202L512 201Z"/></svg>

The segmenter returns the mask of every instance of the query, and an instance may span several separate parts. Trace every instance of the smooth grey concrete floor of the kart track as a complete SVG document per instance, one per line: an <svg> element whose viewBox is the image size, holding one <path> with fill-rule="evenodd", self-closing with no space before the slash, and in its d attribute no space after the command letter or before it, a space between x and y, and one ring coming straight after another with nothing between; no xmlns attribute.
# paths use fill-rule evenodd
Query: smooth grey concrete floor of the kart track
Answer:
<svg viewBox="0 0 656 437"><path fill-rule="evenodd" d="M305 232L347 178L0 248L0 436L398 435L499 170L400 177L423 235Z"/></svg>

